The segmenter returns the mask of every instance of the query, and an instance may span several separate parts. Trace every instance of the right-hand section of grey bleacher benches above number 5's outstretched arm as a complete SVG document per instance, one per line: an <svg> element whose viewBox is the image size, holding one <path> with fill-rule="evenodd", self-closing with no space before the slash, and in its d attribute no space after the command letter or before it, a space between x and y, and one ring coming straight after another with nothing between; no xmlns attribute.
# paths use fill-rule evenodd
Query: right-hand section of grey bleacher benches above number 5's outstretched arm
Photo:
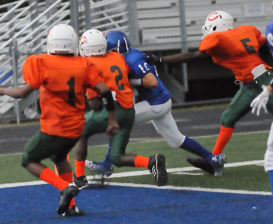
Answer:
<svg viewBox="0 0 273 224"><path fill-rule="evenodd" d="M230 13L235 27L254 25L265 35L266 25L273 17L271 3L271 0L185 0L187 40L181 40L179 0L138 0L142 44L156 44L154 49L146 49L160 50L160 44L187 41L189 47L198 48L205 18L216 10Z"/></svg>

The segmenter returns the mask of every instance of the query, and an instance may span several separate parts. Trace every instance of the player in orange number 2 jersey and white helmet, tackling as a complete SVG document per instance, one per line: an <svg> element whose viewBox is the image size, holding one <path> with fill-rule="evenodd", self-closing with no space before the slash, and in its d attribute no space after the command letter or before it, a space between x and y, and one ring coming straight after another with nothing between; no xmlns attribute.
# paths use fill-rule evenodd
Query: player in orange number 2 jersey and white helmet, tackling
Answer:
<svg viewBox="0 0 273 224"><path fill-rule="evenodd" d="M99 30L87 30L82 34L79 40L80 55L102 69L106 85L110 88L112 93L115 94L114 102L120 131L118 134L110 137L110 159L114 165L118 167L146 167L153 174L158 186L166 185L168 175L165 168L164 155L155 154L150 157L145 157L125 153L135 121L133 90L128 80L129 68L119 53L109 52L106 54L106 49L107 42L105 36ZM99 98L100 95L98 95L96 91L87 88L87 99L89 99L93 108L95 101L100 102ZM84 176L87 140L94 134L106 131L108 125L106 110L107 106L95 106L94 110L85 114L84 131L75 145L75 176L73 182L80 188L88 186L87 179ZM109 171L111 171L111 168Z"/></svg>

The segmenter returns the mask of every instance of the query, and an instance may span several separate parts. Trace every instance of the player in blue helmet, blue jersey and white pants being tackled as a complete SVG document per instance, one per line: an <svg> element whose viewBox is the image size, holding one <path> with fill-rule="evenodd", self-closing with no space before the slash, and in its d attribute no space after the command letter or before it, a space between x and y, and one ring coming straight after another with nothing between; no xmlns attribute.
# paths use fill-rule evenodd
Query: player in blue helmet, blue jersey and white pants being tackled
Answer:
<svg viewBox="0 0 273 224"><path fill-rule="evenodd" d="M131 86L138 91L138 100L135 104L135 123L151 121L156 131L167 141L172 148L182 148L199 155L207 160L204 170L210 174L221 175L225 163L225 155L213 155L195 140L182 135L178 130L171 114L171 94L160 80L156 67L146 62L148 58L144 53L131 48L131 41L123 31L113 30L105 34L107 51L117 51L125 58L129 66ZM102 162L86 160L86 166L93 171L99 171L100 166L109 166L106 161L111 153L108 150L106 159ZM105 170L105 167L104 167Z"/></svg>

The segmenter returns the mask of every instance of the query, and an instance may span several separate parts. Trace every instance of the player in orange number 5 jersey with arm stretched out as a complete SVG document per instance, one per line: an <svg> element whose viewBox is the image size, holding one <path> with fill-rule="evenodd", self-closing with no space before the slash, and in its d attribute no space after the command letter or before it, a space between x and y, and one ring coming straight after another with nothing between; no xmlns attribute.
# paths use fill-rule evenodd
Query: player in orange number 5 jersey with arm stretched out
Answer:
<svg viewBox="0 0 273 224"><path fill-rule="evenodd" d="M251 101L268 85L272 79L272 68L258 55L259 48L266 43L266 37L254 26L241 25L234 28L234 20L224 11L214 11L205 19L202 27L204 35L199 51L184 52L162 58L149 55L149 63L189 62L200 58L212 58L213 62L231 70L240 83L240 89L228 108L221 115L221 129L212 150L213 154L223 151L232 136L236 122L250 110ZM273 113L273 101L268 103ZM205 161L189 158L192 165L200 167ZM201 167L200 167L201 168Z"/></svg>

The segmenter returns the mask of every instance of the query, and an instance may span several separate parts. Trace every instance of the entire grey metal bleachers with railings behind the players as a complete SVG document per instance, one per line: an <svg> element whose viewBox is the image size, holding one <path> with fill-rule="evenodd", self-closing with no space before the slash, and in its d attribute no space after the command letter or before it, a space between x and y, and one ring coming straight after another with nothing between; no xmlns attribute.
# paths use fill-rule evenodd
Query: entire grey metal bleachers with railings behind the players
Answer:
<svg viewBox="0 0 273 224"><path fill-rule="evenodd" d="M206 16L215 10L230 13L235 26L256 26L265 35L272 19L272 0L17 0L0 5L0 85L20 86L22 64L30 54L46 52L46 35L57 23L71 24L80 35L86 29L113 29L129 34L133 47L144 52L197 49ZM173 96L183 101L182 83L169 78ZM37 112L38 92L25 100L0 97L0 122ZM33 115L33 113L32 113Z"/></svg>

